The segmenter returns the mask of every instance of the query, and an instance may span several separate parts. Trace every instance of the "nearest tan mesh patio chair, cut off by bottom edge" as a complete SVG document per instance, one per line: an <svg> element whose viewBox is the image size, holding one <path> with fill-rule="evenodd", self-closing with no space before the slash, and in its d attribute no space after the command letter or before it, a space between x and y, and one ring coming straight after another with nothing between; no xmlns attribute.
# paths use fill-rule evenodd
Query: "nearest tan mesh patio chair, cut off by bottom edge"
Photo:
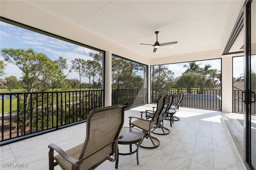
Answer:
<svg viewBox="0 0 256 170"><path fill-rule="evenodd" d="M84 143L66 151L55 144L48 145L49 170L54 170L56 165L63 170L88 170L95 169L106 160L114 162L118 157L118 139L122 138L119 133L127 105L93 109L88 114ZM58 155L54 156L54 150Z"/></svg>

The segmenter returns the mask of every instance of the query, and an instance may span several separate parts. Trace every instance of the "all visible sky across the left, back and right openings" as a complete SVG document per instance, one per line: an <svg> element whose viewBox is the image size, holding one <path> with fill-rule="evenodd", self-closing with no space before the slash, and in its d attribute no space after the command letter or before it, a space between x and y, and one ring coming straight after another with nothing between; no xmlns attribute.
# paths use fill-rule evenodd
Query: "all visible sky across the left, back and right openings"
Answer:
<svg viewBox="0 0 256 170"><path fill-rule="evenodd" d="M57 60L59 56L67 59L68 65L71 65L71 61L75 58L83 58L85 60L92 59L89 57L89 53L97 52L92 49L88 49L85 47L81 47L79 45L75 45L72 43L64 42L62 40L58 40L56 38L52 38L49 36L45 36L43 34L38 34L36 32L32 32L30 30L26 30L23 28L19 28L17 26L12 26L10 24L6 24L4 22L0 22L0 47L2 48L22 48L28 49L32 48L34 51L38 53L44 53L50 59ZM239 77L241 73L243 73L243 61L237 59L234 61L234 77ZM2 59L2 56L1 56ZM243 59L242 59L243 60ZM204 67L205 64L212 65L212 69L221 69L220 59L216 60L204 60L204 61L196 61L196 63L201 63L200 67ZM174 72L174 76L180 76L186 68L183 68L184 64L188 63L175 63L169 64L167 67ZM67 73L68 70L64 71ZM18 70L18 67L15 65L7 65L5 68L5 75L0 78L8 77L11 75L16 76L17 78L22 77L22 73ZM73 79L78 77L78 73L72 71L68 77L68 79ZM86 81L86 78L84 78ZM82 80L82 82L84 82Z"/></svg>

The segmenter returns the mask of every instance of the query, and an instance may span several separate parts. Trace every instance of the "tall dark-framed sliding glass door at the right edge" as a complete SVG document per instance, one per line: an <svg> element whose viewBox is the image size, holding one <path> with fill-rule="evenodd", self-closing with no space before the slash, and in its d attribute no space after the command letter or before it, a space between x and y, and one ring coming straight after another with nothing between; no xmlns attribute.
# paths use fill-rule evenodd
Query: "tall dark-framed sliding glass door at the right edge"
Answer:
<svg viewBox="0 0 256 170"><path fill-rule="evenodd" d="M244 149L249 169L256 169L256 1L244 6Z"/></svg>

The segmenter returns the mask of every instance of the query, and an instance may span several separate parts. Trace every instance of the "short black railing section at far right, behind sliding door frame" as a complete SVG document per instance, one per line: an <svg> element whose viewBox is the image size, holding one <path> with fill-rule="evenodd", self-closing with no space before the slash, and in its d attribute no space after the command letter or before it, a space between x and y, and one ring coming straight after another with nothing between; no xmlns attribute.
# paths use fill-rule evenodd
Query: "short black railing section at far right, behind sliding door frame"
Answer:
<svg viewBox="0 0 256 170"><path fill-rule="evenodd" d="M256 93L256 91L253 91ZM233 112L234 113L244 113L244 103L242 99L243 90L233 90ZM252 96L252 101L254 101L254 96ZM251 113L256 114L255 102L251 103Z"/></svg>

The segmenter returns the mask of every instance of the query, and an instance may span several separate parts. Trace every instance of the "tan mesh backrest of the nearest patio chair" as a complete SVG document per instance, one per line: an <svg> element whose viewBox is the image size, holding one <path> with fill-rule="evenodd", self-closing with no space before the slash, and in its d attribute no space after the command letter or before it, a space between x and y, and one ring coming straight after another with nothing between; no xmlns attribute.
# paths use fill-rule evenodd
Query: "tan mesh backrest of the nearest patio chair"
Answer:
<svg viewBox="0 0 256 170"><path fill-rule="evenodd" d="M115 151L128 103L93 109L86 122L86 139L79 159L83 169L95 166Z"/></svg>

